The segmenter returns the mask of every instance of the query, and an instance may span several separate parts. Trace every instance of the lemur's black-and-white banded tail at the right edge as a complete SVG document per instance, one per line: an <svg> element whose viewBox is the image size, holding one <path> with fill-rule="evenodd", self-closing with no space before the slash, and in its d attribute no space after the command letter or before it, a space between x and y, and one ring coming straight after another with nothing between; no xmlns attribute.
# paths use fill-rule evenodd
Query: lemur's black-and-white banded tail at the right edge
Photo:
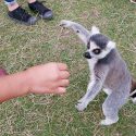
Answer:
<svg viewBox="0 0 136 136"><path fill-rule="evenodd" d="M134 103L136 103L136 82L132 81L131 98Z"/></svg>

